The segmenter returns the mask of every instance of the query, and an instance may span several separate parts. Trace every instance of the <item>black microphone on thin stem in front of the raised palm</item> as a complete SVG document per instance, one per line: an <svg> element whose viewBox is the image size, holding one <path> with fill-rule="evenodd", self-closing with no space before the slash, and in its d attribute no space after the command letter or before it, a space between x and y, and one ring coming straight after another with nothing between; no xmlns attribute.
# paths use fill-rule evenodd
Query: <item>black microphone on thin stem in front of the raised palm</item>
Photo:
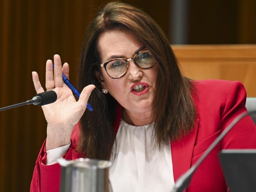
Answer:
<svg viewBox="0 0 256 192"><path fill-rule="evenodd" d="M7 107L2 107L2 108L0 108L0 111L12 109L12 108L19 107L22 105L29 105L29 104L42 106L42 105L54 103L54 102L56 102L56 100L57 100L56 92L54 92L53 90L49 90L46 92L36 94L31 100L28 100L26 102L18 103L15 105L9 105Z"/></svg>

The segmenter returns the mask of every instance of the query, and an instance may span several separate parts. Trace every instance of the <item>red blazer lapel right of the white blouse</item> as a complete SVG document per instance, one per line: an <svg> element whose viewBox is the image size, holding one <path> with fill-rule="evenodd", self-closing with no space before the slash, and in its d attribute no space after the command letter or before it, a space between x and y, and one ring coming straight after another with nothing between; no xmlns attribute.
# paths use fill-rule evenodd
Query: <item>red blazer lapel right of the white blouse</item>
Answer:
<svg viewBox="0 0 256 192"><path fill-rule="evenodd" d="M184 174L191 167L191 160L195 140L197 137L199 119L195 120L195 127L187 137L179 141L171 142L171 153L173 161L173 176L174 181Z"/></svg>

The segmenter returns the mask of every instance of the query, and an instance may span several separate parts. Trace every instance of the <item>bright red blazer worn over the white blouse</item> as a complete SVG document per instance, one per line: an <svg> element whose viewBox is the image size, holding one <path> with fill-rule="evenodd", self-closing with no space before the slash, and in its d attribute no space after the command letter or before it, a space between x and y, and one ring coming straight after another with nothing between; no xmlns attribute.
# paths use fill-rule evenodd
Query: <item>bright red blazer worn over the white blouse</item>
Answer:
<svg viewBox="0 0 256 192"><path fill-rule="evenodd" d="M173 175L176 181L194 164L211 142L239 114L246 111L246 92L237 81L204 80L195 81L197 93L193 95L197 108L197 120L191 134L180 141L171 142ZM117 132L122 109L118 110L115 122ZM65 159L81 157L74 151L77 144L79 127L76 126L71 137L71 146L64 155ZM250 116L243 118L223 138L206 157L192 177L187 192L224 192L226 182L217 154L221 149L256 148L256 126ZM45 143L35 164L30 191L57 192L60 184L60 166L46 166ZM161 183L159 184L161 185Z"/></svg>

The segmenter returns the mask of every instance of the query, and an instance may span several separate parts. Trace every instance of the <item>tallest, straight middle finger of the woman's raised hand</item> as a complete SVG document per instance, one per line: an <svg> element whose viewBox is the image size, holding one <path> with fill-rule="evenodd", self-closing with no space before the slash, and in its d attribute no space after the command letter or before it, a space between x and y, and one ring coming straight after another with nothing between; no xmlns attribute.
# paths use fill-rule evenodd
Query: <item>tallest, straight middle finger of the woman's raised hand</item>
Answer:
<svg viewBox="0 0 256 192"><path fill-rule="evenodd" d="M62 67L59 55L54 55L54 85L55 87L63 87Z"/></svg>

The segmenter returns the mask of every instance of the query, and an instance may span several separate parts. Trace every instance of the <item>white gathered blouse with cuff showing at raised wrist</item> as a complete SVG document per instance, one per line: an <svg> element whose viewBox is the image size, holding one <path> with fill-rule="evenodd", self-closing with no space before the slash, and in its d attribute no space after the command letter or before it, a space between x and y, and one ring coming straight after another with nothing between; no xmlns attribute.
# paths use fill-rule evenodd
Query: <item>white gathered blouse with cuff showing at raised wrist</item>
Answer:
<svg viewBox="0 0 256 192"><path fill-rule="evenodd" d="M171 145L169 142L161 150L153 148L153 127L154 124L132 126L121 120L116 136L116 156L113 160L114 147L109 170L113 192L169 192L173 188ZM46 151L47 165L56 163L69 145Z"/></svg>

